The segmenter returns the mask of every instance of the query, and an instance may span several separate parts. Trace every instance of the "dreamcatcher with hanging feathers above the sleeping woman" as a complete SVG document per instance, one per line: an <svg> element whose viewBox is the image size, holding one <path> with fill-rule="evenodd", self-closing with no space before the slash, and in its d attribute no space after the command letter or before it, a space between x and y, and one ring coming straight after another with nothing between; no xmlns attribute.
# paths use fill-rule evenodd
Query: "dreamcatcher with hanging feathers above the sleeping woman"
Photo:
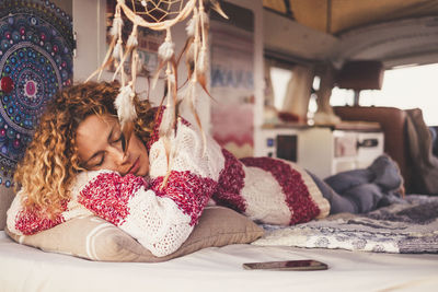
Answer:
<svg viewBox="0 0 438 292"><path fill-rule="evenodd" d="M214 9L223 17L228 19L228 16L221 10L218 0L131 0L127 2L128 4L125 0L117 0L113 26L110 31L112 40L108 50L102 66L94 71L88 80L96 74L97 79L100 79L103 70L114 63L116 70L113 79L119 77L122 83L120 92L115 100L115 107L117 109L122 131L126 137L126 141L129 142L130 135L134 131L134 120L137 118L132 98L135 96L137 69L139 68L137 52L138 26L154 31L165 31L165 40L160 45L158 50L160 63L152 78L151 85L153 89L160 73L164 70L166 80L166 94L164 96L166 98L166 110L159 129L160 137L163 138L168 157L168 175L163 180L164 186L169 178L172 157L176 151L176 145L172 145L170 141L171 135L175 132L178 107L182 101L188 103L196 124L203 135L204 149L206 149L206 137L196 112L195 103L197 86L200 86L210 96L206 84L206 71L208 68L208 10ZM132 23L132 31L125 44L122 35L124 25L122 13ZM172 40L171 28L176 23L189 16L192 17L188 20L186 26L187 40L180 56L176 58L175 44ZM178 94L177 66L183 55L185 55L188 80L182 90L183 93ZM128 59L130 59L130 77L125 73L124 69L125 62ZM128 144L126 149L128 149Z"/></svg>

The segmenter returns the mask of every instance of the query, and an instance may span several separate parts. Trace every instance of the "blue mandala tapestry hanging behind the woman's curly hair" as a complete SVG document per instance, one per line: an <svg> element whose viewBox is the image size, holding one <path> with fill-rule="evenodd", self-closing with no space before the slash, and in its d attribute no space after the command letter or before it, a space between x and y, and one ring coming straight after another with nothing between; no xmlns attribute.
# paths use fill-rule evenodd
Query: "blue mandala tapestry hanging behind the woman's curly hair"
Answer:
<svg viewBox="0 0 438 292"><path fill-rule="evenodd" d="M50 1L0 0L0 185L56 92L72 83L71 17Z"/></svg>

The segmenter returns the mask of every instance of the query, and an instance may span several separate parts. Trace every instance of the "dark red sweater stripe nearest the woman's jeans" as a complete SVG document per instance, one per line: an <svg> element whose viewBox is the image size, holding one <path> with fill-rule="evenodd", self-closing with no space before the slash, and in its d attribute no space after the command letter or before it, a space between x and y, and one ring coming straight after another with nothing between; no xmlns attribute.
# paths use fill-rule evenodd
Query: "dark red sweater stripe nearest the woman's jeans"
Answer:
<svg viewBox="0 0 438 292"><path fill-rule="evenodd" d="M290 218L291 225L309 222L320 214L320 208L312 200L301 174L291 168L289 164L269 157L247 157L241 161L246 166L260 167L272 173L277 179L283 192L286 195L286 203L292 212Z"/></svg>

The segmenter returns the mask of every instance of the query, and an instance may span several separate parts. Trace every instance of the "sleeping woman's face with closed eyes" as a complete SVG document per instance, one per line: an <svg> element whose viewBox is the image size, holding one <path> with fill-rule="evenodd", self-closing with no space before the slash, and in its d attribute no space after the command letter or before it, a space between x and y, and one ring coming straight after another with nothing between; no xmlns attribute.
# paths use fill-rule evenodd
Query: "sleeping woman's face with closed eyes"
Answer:
<svg viewBox="0 0 438 292"><path fill-rule="evenodd" d="M116 117L88 116L79 124L76 139L81 165L89 171L111 170L123 176L146 176L149 172L148 152L136 135L131 135L124 152L124 136Z"/></svg>

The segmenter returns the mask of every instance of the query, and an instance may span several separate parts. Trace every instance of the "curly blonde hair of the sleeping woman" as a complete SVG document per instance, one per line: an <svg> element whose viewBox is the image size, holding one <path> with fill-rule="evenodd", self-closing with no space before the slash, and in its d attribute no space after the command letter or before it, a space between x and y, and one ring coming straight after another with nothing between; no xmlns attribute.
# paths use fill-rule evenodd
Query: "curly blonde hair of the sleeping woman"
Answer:
<svg viewBox="0 0 438 292"><path fill-rule="evenodd" d="M90 115L114 115L117 82L87 82L57 94L42 116L26 152L18 164L14 180L24 191L24 205L48 214L60 212L70 198L69 186L83 171L77 154L76 132ZM153 130L155 110L136 95L138 118L135 133L146 143Z"/></svg>

